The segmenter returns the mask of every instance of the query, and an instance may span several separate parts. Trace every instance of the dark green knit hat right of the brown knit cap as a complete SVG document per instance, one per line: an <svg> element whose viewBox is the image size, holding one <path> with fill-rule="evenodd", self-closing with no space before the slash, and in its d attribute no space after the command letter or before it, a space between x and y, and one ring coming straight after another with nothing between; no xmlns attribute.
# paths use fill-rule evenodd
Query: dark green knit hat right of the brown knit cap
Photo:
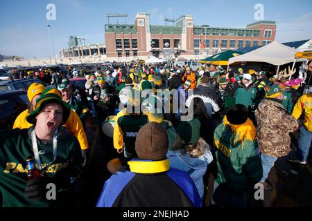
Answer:
<svg viewBox="0 0 312 221"><path fill-rule="evenodd" d="M200 121L191 119L189 122L181 122L177 126L177 134L186 144L195 144L200 138Z"/></svg>

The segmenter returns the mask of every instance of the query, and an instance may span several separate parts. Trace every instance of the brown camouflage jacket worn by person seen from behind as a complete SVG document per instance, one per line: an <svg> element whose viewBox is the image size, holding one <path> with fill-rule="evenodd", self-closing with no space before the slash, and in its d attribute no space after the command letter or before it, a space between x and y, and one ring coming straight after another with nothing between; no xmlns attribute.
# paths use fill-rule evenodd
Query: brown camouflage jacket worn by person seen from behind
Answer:
<svg viewBox="0 0 312 221"><path fill-rule="evenodd" d="M263 99L255 115L260 150L275 157L288 155L291 151L289 133L299 128L295 117L288 115L283 105L273 99Z"/></svg>

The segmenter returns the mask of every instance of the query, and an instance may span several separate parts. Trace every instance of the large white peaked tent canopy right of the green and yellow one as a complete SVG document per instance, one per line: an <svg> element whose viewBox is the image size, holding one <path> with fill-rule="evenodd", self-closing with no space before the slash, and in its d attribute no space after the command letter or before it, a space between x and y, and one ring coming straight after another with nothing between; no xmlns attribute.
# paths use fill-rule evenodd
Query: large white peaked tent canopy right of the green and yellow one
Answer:
<svg viewBox="0 0 312 221"><path fill-rule="evenodd" d="M279 44L277 41L267 44L261 48L245 53L239 57L229 59L229 64L242 61L266 62L272 65L283 65L293 62L296 49Z"/></svg>

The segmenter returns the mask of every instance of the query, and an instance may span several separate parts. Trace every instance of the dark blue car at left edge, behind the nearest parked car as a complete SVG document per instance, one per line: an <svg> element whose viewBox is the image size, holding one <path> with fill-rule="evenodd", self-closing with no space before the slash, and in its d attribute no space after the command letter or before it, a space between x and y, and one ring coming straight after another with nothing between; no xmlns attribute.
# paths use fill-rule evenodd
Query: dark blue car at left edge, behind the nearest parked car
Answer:
<svg viewBox="0 0 312 221"><path fill-rule="evenodd" d="M4 79L0 80L0 90L27 90L28 87L33 83L44 84L39 79Z"/></svg>

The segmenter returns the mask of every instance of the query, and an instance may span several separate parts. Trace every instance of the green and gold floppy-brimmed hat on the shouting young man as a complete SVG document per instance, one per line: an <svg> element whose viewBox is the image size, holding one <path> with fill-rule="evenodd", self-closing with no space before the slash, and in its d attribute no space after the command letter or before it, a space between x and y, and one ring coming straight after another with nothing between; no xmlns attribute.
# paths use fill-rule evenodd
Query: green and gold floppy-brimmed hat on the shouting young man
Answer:
<svg viewBox="0 0 312 221"><path fill-rule="evenodd" d="M60 104L63 108L63 118L61 125L64 125L67 122L67 119L71 113L71 108L68 106L68 104L62 101L62 94L60 93L60 90L56 88L46 89L42 92L41 96L37 99L36 102L35 111L26 117L28 123L35 124L37 121L36 116L40 113L43 106L52 102Z"/></svg>

